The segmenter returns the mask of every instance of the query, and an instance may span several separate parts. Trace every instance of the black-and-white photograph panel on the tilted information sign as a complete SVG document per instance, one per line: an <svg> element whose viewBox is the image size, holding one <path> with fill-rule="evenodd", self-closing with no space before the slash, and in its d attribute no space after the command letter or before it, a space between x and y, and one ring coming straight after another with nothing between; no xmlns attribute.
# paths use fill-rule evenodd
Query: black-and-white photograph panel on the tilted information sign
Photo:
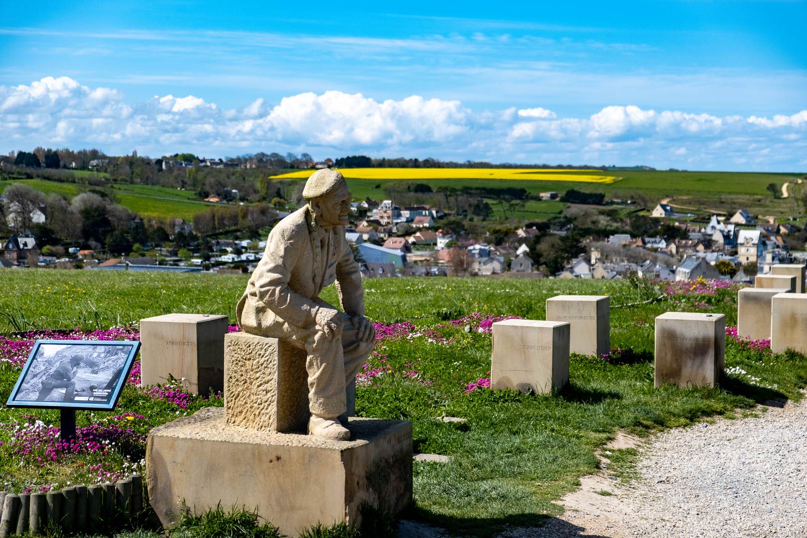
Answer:
<svg viewBox="0 0 807 538"><path fill-rule="evenodd" d="M41 343L28 360L14 402L108 404L133 344Z"/></svg>

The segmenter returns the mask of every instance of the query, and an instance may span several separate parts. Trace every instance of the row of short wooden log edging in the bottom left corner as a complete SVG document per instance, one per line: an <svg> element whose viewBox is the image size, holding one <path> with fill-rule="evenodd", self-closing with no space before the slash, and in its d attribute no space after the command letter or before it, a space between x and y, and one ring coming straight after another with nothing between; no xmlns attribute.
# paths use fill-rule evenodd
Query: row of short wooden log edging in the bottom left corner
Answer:
<svg viewBox="0 0 807 538"><path fill-rule="evenodd" d="M133 474L115 484L68 486L47 493L11 494L0 491L0 538L41 536L48 524L65 532L98 528L104 521L130 521L144 509L143 477Z"/></svg>

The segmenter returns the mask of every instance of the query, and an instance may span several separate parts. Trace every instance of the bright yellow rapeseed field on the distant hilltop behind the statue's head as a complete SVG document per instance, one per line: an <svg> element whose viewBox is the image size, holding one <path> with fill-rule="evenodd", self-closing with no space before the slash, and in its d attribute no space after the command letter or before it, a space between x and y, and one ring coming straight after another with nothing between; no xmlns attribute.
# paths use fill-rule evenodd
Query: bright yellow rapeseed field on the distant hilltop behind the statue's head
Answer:
<svg viewBox="0 0 807 538"><path fill-rule="evenodd" d="M519 179L540 181L583 181L613 183L619 177L591 173L591 170L504 169L504 168L349 168L339 170L350 179ZM278 178L307 178L314 169L283 173Z"/></svg>

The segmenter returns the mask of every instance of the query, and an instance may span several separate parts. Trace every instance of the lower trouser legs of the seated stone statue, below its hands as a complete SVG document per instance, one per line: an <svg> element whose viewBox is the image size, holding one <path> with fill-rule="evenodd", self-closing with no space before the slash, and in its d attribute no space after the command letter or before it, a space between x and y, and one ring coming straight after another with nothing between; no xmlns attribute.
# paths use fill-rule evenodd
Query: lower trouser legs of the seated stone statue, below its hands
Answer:
<svg viewBox="0 0 807 538"><path fill-rule="evenodd" d="M374 344L359 341L350 316L341 314L344 322L341 338L326 340L319 335L306 342L308 357L308 407L313 415L336 418L347 410L345 387L367 361Z"/></svg>

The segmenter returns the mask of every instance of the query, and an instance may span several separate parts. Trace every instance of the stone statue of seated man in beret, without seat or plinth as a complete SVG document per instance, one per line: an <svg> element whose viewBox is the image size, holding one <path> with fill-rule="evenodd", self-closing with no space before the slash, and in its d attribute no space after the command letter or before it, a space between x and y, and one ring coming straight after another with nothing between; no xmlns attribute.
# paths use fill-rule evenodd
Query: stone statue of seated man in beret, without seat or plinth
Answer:
<svg viewBox="0 0 807 538"><path fill-rule="evenodd" d="M350 194L341 173L322 169L308 178L303 198L308 203L271 231L236 315L245 332L307 352L308 433L348 440L339 421L347 410L346 387L375 344L373 324L364 317L362 275L345 240ZM344 313L319 297L333 282Z"/></svg>

